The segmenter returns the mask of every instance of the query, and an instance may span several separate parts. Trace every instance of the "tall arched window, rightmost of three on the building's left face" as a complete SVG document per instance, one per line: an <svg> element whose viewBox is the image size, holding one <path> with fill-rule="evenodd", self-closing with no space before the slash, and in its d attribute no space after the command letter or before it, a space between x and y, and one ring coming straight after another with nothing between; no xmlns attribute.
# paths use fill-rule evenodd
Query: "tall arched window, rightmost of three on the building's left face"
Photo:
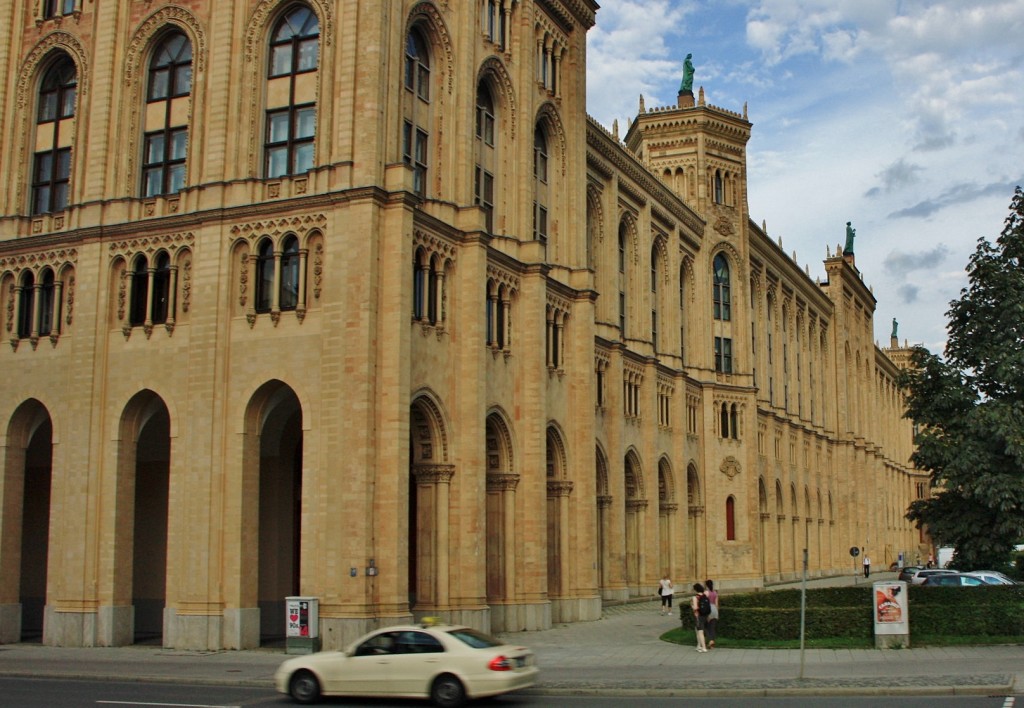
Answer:
<svg viewBox="0 0 1024 708"><path fill-rule="evenodd" d="M270 35L267 71L267 177L302 174L313 166L319 20L305 5L290 9Z"/></svg>

